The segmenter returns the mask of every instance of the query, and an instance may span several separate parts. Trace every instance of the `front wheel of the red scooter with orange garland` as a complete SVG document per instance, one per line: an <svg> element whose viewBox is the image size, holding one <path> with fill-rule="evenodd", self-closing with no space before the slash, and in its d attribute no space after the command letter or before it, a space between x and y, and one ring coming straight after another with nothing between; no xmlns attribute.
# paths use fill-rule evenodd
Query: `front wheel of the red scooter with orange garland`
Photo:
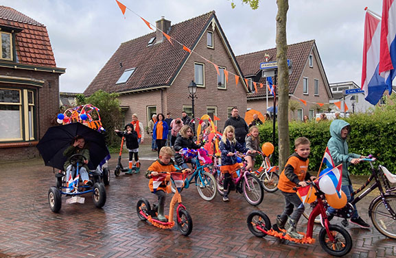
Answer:
<svg viewBox="0 0 396 258"><path fill-rule="evenodd" d="M352 248L352 238L348 231L337 225L329 225L329 231L334 237L334 242L329 240L329 235L325 228L319 233L319 242L323 250L330 255L343 256L349 253Z"/></svg>

